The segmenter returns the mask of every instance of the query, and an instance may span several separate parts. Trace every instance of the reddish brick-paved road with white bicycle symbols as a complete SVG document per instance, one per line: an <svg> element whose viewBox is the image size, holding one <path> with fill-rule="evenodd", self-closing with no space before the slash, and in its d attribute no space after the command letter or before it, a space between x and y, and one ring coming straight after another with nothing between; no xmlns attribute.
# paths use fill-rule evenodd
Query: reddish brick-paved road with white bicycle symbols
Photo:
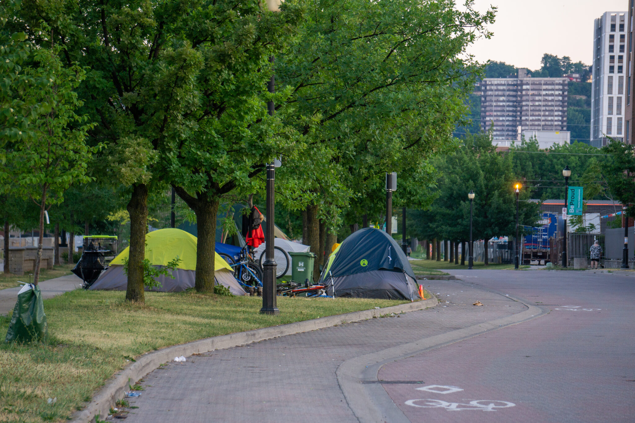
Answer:
<svg viewBox="0 0 635 423"><path fill-rule="evenodd" d="M397 382L382 386L411 422L635 421L635 277L453 273L551 312L384 365L378 379Z"/></svg>

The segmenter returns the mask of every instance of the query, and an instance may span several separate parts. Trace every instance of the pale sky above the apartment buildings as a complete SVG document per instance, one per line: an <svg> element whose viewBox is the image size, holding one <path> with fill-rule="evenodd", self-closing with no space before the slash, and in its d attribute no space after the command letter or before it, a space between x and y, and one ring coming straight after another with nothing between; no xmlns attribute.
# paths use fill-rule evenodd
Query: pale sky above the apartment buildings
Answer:
<svg viewBox="0 0 635 423"><path fill-rule="evenodd" d="M460 0L458 4L462 3ZM629 0L475 0L485 12L497 6L491 39L479 39L467 51L479 62L496 60L532 70L544 53L569 56L591 65L593 20L605 11L626 11Z"/></svg>

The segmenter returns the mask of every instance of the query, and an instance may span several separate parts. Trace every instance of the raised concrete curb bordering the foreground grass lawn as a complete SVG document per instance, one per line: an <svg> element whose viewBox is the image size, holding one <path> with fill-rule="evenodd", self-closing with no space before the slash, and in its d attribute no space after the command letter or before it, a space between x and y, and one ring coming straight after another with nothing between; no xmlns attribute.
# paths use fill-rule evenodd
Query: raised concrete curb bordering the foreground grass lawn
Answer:
<svg viewBox="0 0 635 423"><path fill-rule="evenodd" d="M173 360L176 356L189 357L192 354L206 353L215 349L231 348L239 345L250 344L251 342L264 341L274 337L309 332L310 330L323 329L347 322L358 322L373 317L380 317L388 313L404 313L424 308L434 307L438 304L438 299L415 301L413 303L399 304L380 309L353 311L344 315L326 316L303 322L287 323L286 325L264 327L262 329L248 330L247 332L237 332L235 334L220 335L199 341L179 344L151 353L145 353L137 358L137 361L130 363L126 368L117 372L109 382L93 397L93 400L83 410L72 415L71 423L95 422L95 417L107 416L110 408L115 407L117 400L124 398L131 384L135 384L139 379L149 374L159 365Z"/></svg>

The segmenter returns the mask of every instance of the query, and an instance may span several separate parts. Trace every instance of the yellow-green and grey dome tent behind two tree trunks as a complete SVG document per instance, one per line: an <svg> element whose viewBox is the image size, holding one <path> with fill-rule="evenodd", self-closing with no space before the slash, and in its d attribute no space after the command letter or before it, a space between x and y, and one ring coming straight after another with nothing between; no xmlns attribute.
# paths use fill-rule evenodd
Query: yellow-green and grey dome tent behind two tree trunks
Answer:
<svg viewBox="0 0 635 423"><path fill-rule="evenodd" d="M90 289L126 290L128 277L123 271L123 264L124 259L128 258L129 251L130 247L127 247L119 253L110 262L110 268L100 275ZM161 288L153 288L153 291L180 292L194 287L196 237L176 228L159 229L145 235L145 258L150 260L152 266L166 266L177 256L181 261L177 269L172 272L174 279L160 275L157 281L161 283ZM245 291L234 278L231 266L217 253L215 253L214 264L216 282L228 287L234 295L244 295Z"/></svg>

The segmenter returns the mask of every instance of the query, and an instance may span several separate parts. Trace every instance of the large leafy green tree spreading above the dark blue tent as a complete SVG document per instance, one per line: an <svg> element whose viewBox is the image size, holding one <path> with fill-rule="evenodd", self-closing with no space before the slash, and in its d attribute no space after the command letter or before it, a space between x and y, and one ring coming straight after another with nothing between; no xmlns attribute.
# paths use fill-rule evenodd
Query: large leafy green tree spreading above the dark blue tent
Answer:
<svg viewBox="0 0 635 423"><path fill-rule="evenodd" d="M293 124L316 152L298 163L312 251L324 244L319 221L335 220L320 209L341 207L345 196L368 198L382 190L386 171L414 169L452 143L481 71L465 48L490 36L492 21L493 11L481 15L471 3L458 11L452 1L311 4L278 69L293 88L281 110L304 118Z"/></svg>

